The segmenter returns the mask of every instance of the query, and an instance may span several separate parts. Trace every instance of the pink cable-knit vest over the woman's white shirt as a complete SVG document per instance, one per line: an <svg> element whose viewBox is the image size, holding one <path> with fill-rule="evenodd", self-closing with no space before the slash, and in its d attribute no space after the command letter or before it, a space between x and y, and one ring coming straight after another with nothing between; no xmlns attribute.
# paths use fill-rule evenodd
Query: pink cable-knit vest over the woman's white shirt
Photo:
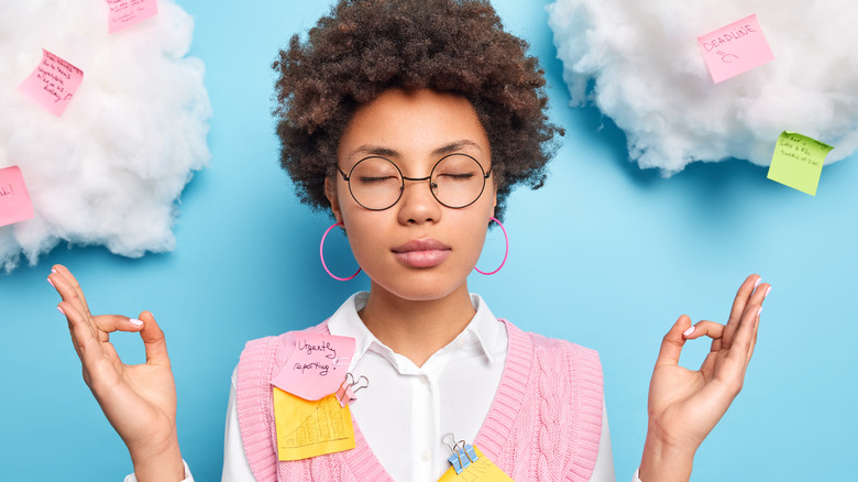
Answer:
<svg viewBox="0 0 858 482"><path fill-rule="evenodd" d="M590 480L602 437L598 354L506 324L506 364L474 445L517 482ZM327 322L307 332L328 333ZM356 447L294 462L277 461L271 380L294 347L293 332L248 342L239 361L239 426L257 482L393 482L358 424Z"/></svg>

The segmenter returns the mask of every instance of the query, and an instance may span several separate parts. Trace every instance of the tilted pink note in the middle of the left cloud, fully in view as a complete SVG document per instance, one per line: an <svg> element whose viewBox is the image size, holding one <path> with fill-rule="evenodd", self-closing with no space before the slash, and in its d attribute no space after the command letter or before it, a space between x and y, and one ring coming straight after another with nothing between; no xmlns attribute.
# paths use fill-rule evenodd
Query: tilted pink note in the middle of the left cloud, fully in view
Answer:
<svg viewBox="0 0 858 482"><path fill-rule="evenodd" d="M42 62L18 89L59 117L84 81L84 70L44 48L42 53Z"/></svg>

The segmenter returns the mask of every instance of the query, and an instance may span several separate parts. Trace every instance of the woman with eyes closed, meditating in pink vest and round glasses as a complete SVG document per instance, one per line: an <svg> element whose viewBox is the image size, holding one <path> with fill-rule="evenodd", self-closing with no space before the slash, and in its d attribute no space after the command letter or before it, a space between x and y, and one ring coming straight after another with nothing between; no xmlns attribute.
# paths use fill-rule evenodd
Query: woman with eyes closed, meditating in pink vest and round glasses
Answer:
<svg viewBox="0 0 858 482"><path fill-rule="evenodd" d="M351 406L354 449L278 461L271 384L295 333L249 343L233 377L224 480L433 481L449 468L448 432L518 481L613 480L595 353L498 322L468 291L490 222L515 186L542 184L562 133L525 51L485 2L365 0L339 2L280 53L282 163L301 200L344 229L371 280L308 332L353 338L349 370L372 385ZM154 318L91 316L66 269L50 280L136 479L188 476ZM726 326L682 316L664 337L641 481L689 480L741 387L768 291L751 275ZM116 330L141 333L146 364L121 363L108 340ZM713 346L701 370L679 368L684 340L702 336Z"/></svg>

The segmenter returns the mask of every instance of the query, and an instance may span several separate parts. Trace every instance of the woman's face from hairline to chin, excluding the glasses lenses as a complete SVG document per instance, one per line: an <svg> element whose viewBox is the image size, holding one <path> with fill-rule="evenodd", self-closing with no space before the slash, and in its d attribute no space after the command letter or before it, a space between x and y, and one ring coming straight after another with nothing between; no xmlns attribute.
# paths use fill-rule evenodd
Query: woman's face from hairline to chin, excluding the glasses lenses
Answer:
<svg viewBox="0 0 858 482"><path fill-rule="evenodd" d="M490 172L488 139L473 106L451 94L391 89L358 109L340 140L338 163L349 174L361 160L382 156L403 176L422 178L453 153L470 155ZM496 205L494 176L480 198L461 209L442 206L428 180L405 180L399 200L380 211L359 205L339 174L326 182L326 191L373 289L409 300L466 291Z"/></svg>

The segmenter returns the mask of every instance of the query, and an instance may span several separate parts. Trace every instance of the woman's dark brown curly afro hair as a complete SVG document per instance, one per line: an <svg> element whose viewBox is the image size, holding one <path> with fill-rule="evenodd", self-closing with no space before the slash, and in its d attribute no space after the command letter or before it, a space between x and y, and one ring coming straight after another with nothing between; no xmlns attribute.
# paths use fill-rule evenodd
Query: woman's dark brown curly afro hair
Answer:
<svg viewBox="0 0 858 482"><path fill-rule="evenodd" d="M543 70L528 44L504 32L481 0L340 0L309 31L294 35L273 68L280 164L298 196L327 209L324 178L355 109L393 87L430 88L474 106L492 150L495 216L517 185L546 179L556 133L546 116Z"/></svg>

